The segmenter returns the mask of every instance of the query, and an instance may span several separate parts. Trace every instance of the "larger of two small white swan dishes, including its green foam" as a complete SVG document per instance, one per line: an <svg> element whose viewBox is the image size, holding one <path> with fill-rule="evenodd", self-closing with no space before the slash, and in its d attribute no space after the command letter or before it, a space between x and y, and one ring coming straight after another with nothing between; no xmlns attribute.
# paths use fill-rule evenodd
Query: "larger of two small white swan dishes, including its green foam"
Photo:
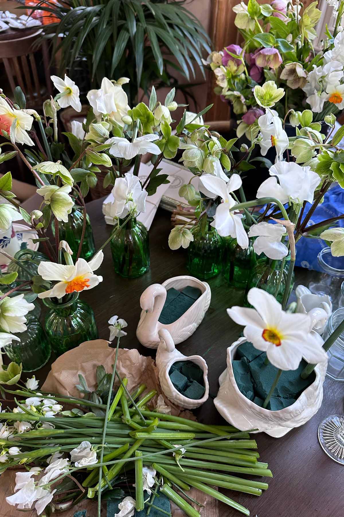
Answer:
<svg viewBox="0 0 344 517"><path fill-rule="evenodd" d="M188 296L190 293L191 296ZM194 293L198 293L198 295ZM164 307L167 297L169 299L174 297L169 306L170 315L166 313L167 308ZM137 339L143 346L157 348L160 341L158 331L166 328L175 344L182 343L202 322L209 308L210 299L209 285L194 277L173 277L161 285L150 285L143 291L140 298L142 311L136 330ZM175 316L176 311L180 312L183 307L186 309L185 312L174 320L173 315Z"/></svg>

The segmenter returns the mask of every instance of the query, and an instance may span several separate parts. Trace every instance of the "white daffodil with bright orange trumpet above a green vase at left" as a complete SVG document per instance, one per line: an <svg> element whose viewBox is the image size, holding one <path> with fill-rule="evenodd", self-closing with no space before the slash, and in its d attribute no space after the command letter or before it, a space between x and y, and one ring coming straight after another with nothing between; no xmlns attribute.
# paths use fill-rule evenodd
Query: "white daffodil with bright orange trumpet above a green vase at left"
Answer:
<svg viewBox="0 0 344 517"><path fill-rule="evenodd" d="M103 277L93 274L103 262L104 254L99 251L86 262L84 258L78 258L75 265L56 264L55 262L41 262L38 266L38 275L43 280L58 281L54 287L44 293L39 293L39 298L62 298L65 294L92 289Z"/></svg>

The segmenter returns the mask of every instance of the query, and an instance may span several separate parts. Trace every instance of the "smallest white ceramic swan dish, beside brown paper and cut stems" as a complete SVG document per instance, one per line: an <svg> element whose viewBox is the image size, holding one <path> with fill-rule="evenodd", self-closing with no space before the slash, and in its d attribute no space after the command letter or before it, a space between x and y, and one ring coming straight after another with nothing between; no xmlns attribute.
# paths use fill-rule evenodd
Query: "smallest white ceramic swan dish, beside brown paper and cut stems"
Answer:
<svg viewBox="0 0 344 517"><path fill-rule="evenodd" d="M160 381L160 386L161 386L163 393L165 393L166 397L171 402L173 402L174 404L177 404L178 406L187 408L187 409L194 409L195 407L199 407L200 405L204 404L204 402L209 397L207 363L201 356L195 355L195 356L187 357L187 356L181 354L181 352L179 352L178 350L176 350L173 339L171 337L171 334L165 328L160 329L158 334L159 334L159 346L158 346L158 349L156 352L155 362L156 362L156 367L159 371L159 381ZM183 362L185 362L186 367L188 366L187 363L192 362L192 363L194 363L194 365L196 367L199 367L199 368L197 368L197 370L201 369L203 371L203 379L202 379L202 381L200 381L200 382L203 382L203 385L204 385L204 387L203 387L204 394L203 394L202 398L192 399L192 398L186 397L185 395L183 395L183 393L178 391L175 388L175 386L173 385L172 380L171 380L171 378L173 378L173 377L172 377L172 375L171 375L171 377L169 375L171 367L173 366L173 364L178 364L180 367L180 365L183 364ZM183 366L182 366L182 368L183 368ZM178 370L174 370L173 374L175 372L177 372L177 375L178 375L178 380L175 382L178 382L179 384L182 383L182 384L180 384L180 386L182 388L183 384L184 384L183 377L184 377L184 381L185 381L186 377L185 377L185 375L182 375L181 373L179 373ZM194 384L196 385L195 387L193 386ZM184 385L184 389L185 389L185 387L186 386ZM196 394L197 388L200 388L200 384L195 381L192 381L191 385L185 390L185 393ZM203 389L202 389L202 391L203 391Z"/></svg>

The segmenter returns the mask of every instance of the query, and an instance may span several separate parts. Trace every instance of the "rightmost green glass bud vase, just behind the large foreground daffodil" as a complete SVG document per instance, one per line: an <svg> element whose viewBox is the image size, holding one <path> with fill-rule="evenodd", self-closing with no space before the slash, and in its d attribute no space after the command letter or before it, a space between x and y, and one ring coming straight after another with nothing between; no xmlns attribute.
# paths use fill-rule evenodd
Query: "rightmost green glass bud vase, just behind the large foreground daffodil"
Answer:
<svg viewBox="0 0 344 517"><path fill-rule="evenodd" d="M287 283L287 276L289 271L290 264L290 255L286 257L285 266L282 272L282 278L280 283L280 269L281 269L281 260L267 260L266 257L259 258L256 262L256 265L253 268L251 278L248 282L247 293L250 291L252 287L258 287L259 289L263 289L268 293L272 294L277 301L282 303L284 291ZM294 273L291 277L289 295L292 290L292 286L295 280ZM279 284L280 283L280 284ZM288 296L289 296L288 295ZM244 305L246 307L249 306L247 298L245 298Z"/></svg>

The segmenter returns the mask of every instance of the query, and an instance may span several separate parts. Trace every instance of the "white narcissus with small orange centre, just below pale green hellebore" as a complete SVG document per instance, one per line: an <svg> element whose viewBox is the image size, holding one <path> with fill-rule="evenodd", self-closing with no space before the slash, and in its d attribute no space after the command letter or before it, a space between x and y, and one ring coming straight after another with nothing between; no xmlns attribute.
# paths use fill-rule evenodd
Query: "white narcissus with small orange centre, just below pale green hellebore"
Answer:
<svg viewBox="0 0 344 517"><path fill-rule="evenodd" d="M258 118L261 140L258 141L261 154L265 156L270 147L276 148L276 159L282 160L284 151L288 148L289 139L282 127L280 117L266 113Z"/></svg>

